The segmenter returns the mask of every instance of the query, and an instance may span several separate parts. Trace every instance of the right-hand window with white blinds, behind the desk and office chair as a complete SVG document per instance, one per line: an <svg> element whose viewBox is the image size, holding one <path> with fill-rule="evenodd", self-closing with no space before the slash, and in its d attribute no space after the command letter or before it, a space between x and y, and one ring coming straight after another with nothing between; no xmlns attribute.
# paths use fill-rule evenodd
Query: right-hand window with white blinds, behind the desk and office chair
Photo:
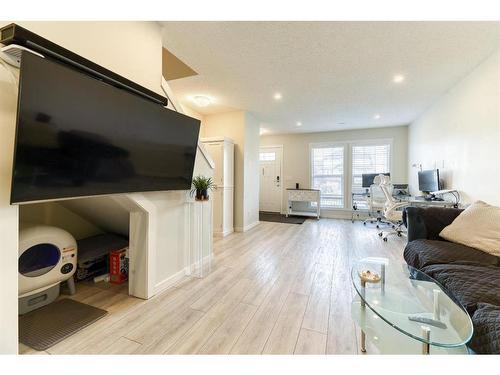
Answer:
<svg viewBox="0 0 500 375"><path fill-rule="evenodd" d="M384 144L353 144L352 145L352 192L363 192L363 173L386 173L391 167L391 145ZM366 202L354 196L353 204L366 205Z"/></svg>

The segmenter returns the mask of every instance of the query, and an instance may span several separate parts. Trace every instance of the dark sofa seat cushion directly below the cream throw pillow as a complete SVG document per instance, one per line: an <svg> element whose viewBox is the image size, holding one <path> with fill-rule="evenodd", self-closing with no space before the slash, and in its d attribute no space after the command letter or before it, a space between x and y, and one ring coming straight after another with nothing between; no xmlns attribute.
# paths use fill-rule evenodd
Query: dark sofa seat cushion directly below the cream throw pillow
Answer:
<svg viewBox="0 0 500 375"><path fill-rule="evenodd" d="M500 265L500 257L447 241L412 241L406 245L403 256L406 263L418 269L442 263Z"/></svg>

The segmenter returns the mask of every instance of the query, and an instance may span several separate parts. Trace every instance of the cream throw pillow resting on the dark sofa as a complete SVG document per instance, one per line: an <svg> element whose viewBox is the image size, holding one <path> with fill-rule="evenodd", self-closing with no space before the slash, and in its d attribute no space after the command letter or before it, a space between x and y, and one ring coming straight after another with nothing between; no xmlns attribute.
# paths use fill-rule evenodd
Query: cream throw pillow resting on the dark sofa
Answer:
<svg viewBox="0 0 500 375"><path fill-rule="evenodd" d="M500 207L477 201L439 235L445 240L500 257Z"/></svg>

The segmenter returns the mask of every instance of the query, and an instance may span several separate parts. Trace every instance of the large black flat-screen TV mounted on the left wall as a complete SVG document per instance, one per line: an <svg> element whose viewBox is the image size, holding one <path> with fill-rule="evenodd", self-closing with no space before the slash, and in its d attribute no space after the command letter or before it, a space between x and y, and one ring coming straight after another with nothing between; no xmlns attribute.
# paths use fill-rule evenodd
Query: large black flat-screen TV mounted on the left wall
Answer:
<svg viewBox="0 0 500 375"><path fill-rule="evenodd" d="M11 203L187 190L200 122L24 53Z"/></svg>

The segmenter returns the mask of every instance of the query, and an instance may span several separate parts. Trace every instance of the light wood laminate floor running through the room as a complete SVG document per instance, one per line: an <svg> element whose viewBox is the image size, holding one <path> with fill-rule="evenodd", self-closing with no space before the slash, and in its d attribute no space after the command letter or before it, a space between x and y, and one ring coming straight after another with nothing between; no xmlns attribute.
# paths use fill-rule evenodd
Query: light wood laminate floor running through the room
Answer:
<svg viewBox="0 0 500 375"><path fill-rule="evenodd" d="M402 260L405 239L384 243L347 220L263 222L214 242L214 267L148 300L126 286L83 284L76 300L109 314L47 352L24 354L357 354L349 271L366 256ZM370 350L369 352L374 352Z"/></svg>

